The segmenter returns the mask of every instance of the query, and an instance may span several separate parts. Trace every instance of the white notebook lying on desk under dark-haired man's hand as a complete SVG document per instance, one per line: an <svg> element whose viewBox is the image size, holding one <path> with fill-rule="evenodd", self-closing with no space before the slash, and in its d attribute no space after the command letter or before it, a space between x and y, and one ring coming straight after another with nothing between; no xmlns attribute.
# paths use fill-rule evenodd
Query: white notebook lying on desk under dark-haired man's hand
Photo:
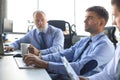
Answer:
<svg viewBox="0 0 120 80"><path fill-rule="evenodd" d="M27 66L24 63L22 57L14 57L14 59L15 59L15 62L16 62L19 69L32 69L32 68L35 68L34 65Z"/></svg>

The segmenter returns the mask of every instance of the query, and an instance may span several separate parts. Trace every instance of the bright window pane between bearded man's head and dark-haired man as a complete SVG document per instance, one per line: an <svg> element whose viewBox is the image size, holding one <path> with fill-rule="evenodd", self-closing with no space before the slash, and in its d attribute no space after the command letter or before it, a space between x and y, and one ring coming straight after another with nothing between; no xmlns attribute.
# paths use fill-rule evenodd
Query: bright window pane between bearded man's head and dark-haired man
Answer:
<svg viewBox="0 0 120 80"><path fill-rule="evenodd" d="M39 9L48 20L65 20L74 23L74 0L39 0Z"/></svg>

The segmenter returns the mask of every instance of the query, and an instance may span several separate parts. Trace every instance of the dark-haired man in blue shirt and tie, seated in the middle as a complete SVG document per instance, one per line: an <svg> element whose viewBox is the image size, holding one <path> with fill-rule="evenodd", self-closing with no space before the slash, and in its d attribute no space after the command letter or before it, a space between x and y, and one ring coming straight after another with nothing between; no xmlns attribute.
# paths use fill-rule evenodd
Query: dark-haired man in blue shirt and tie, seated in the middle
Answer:
<svg viewBox="0 0 120 80"><path fill-rule="evenodd" d="M114 55L114 46L103 32L107 19L108 12L103 7L90 7L86 10L84 20L85 31L90 33L89 37L79 40L69 49L58 53L48 54L45 56L36 56L34 53L26 54L23 57L24 62L27 65L34 64L37 67L45 68L48 72L59 74L59 76L64 75L63 78L65 78L67 72L61 62L61 56L65 56L67 58L70 65L78 75L80 75L80 70L83 66L90 60L96 60L98 65L95 69L84 74L85 76L93 75L102 71L103 67ZM63 78L60 80L69 80Z"/></svg>

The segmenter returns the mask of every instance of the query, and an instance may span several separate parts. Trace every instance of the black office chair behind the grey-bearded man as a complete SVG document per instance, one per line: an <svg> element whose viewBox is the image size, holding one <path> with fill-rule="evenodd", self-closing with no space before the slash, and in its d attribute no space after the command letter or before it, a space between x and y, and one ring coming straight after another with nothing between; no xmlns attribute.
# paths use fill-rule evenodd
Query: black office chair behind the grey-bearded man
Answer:
<svg viewBox="0 0 120 80"><path fill-rule="evenodd" d="M49 20L48 24L53 25L57 28L60 28L63 32L66 30L68 31L68 34L64 34L65 40L64 40L64 49L69 48L72 46L72 36L75 34L74 31L72 31L70 23L64 20Z"/></svg>

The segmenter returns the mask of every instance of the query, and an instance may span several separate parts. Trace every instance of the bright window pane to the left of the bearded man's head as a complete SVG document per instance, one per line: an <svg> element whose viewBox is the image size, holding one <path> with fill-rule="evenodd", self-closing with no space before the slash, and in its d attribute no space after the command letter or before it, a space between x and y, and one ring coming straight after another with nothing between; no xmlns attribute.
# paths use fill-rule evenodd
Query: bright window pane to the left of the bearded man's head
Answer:
<svg viewBox="0 0 120 80"><path fill-rule="evenodd" d="M7 0L7 18L13 20L13 32L27 32L36 4L37 0Z"/></svg>

